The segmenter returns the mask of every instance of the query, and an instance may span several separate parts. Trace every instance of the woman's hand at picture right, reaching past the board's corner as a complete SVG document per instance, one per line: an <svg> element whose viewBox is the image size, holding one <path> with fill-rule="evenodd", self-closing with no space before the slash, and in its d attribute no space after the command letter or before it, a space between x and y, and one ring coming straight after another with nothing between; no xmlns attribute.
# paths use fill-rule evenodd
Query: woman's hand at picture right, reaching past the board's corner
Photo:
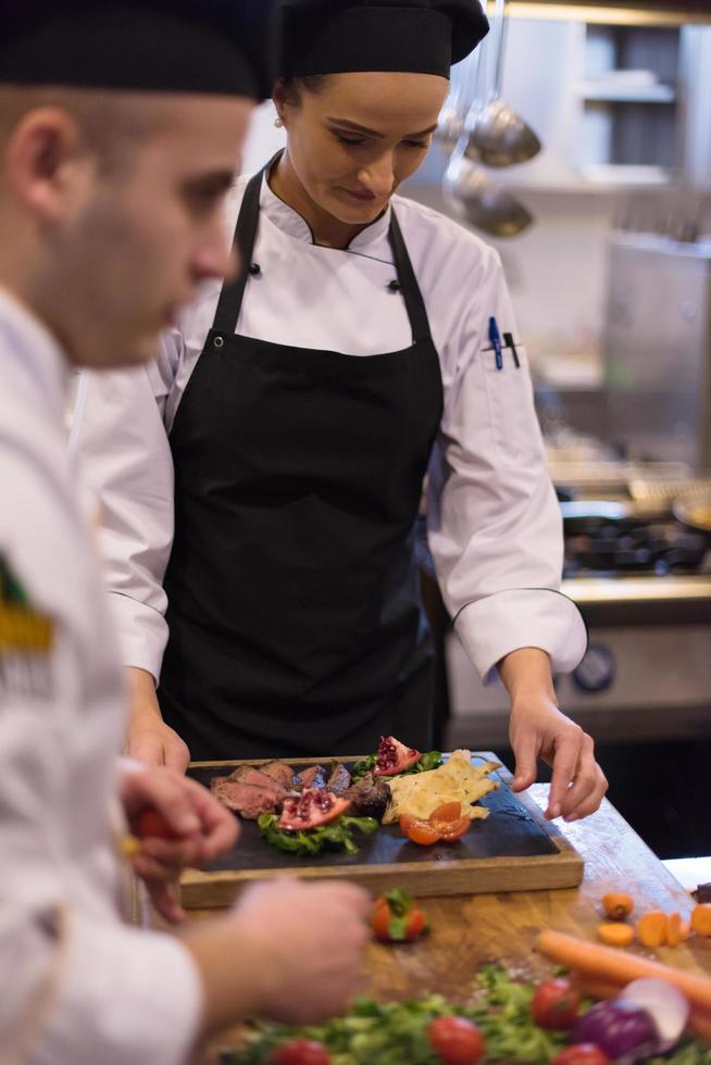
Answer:
<svg viewBox="0 0 711 1065"><path fill-rule="evenodd" d="M542 759L553 769L546 817L573 822L595 813L608 781L595 761L591 737L558 709L548 655L522 648L502 659L499 673L511 696L513 790L534 784L536 760Z"/></svg>

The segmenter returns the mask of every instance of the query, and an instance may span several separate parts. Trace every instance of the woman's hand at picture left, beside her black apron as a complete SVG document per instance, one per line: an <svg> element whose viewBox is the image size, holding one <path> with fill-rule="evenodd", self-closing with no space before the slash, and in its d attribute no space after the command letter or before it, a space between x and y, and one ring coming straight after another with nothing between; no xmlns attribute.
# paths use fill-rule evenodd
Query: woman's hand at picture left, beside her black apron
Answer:
<svg viewBox="0 0 711 1065"><path fill-rule="evenodd" d="M185 773L190 761L187 744L165 724L155 696L155 682L145 669L127 669L130 719L126 754L149 765L166 765Z"/></svg>

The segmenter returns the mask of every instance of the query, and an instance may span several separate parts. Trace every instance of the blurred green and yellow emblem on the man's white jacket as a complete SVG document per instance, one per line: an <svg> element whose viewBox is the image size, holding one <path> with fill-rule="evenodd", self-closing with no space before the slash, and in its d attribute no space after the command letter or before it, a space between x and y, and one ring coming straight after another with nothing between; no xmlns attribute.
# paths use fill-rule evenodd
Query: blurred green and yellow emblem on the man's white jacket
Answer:
<svg viewBox="0 0 711 1065"><path fill-rule="evenodd" d="M0 556L0 693L46 698L53 626L39 614Z"/></svg>

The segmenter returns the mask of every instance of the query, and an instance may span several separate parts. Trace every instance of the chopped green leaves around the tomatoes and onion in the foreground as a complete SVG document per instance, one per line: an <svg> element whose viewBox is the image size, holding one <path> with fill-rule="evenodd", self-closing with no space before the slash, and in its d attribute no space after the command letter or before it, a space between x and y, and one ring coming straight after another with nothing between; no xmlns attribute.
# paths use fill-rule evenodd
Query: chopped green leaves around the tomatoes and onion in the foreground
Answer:
<svg viewBox="0 0 711 1065"><path fill-rule="evenodd" d="M545 1031L533 1020L535 987L512 980L499 965L484 966L470 1002L454 1005L441 994L407 1002L360 999L340 1017L323 1025L287 1028L254 1025L246 1045L225 1056L225 1065L266 1065L286 1039L316 1039L327 1048L333 1065L441 1065L429 1044L427 1026L436 1017L467 1017L486 1040L486 1065L495 1062L552 1062L567 1042L566 1032ZM711 1048L687 1039L649 1065L711 1065Z"/></svg>

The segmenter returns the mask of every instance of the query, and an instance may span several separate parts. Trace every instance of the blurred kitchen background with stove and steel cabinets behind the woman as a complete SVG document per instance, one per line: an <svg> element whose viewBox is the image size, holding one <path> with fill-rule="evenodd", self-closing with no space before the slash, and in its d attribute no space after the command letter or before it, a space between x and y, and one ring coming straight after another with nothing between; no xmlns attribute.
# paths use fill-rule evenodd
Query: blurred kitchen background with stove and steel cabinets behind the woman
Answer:
<svg viewBox="0 0 711 1065"><path fill-rule="evenodd" d="M711 3L519 2L501 23L503 7L488 4L492 33L457 70L404 193L475 223L504 263L564 511L564 589L590 631L582 666L559 678L561 706L595 736L610 798L650 847L706 855ZM535 146L523 120L541 149L482 167L500 40L514 116L495 138ZM245 170L280 147L273 117L265 105ZM510 760L504 694L479 685L423 568L440 741Z"/></svg>

